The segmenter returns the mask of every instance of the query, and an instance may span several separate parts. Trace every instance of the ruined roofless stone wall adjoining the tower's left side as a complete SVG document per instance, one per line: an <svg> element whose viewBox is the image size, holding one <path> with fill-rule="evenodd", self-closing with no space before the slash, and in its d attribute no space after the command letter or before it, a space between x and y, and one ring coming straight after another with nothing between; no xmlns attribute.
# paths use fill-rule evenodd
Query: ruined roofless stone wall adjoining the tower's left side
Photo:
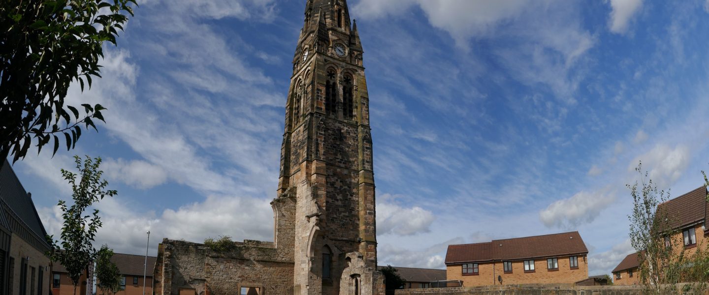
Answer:
<svg viewBox="0 0 709 295"><path fill-rule="evenodd" d="M218 252L200 243L165 238L158 249L154 294L232 295L240 294L240 287L260 287L263 294L292 294L295 198L283 194L272 206L275 243L246 240Z"/></svg>

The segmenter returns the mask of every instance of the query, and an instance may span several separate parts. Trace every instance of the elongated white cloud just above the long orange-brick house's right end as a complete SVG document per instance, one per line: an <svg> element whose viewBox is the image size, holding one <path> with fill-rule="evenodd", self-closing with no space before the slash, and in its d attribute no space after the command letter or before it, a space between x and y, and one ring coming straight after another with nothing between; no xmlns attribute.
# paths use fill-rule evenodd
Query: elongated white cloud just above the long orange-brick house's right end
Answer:
<svg viewBox="0 0 709 295"><path fill-rule="evenodd" d="M596 219L613 202L615 197L603 192L579 192L573 197L549 204L547 209L539 212L539 218L547 227L574 229Z"/></svg>

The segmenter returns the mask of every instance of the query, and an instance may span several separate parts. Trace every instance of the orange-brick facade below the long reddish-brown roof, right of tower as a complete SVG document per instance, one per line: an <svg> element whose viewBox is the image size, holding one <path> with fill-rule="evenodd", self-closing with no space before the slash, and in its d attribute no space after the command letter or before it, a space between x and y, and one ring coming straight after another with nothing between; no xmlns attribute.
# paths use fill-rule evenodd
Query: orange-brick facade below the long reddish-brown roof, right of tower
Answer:
<svg viewBox="0 0 709 295"><path fill-rule="evenodd" d="M573 284L588 278L588 264L583 255L577 256L579 268L571 270L569 257L559 257L559 269L547 270L547 260L535 260L535 271L525 272L523 261L512 262L512 273L505 273L503 262L479 263L478 275L463 275L462 265L448 265L447 279L461 280L463 286L489 286L500 284L497 277L502 277L503 285L506 284Z"/></svg>

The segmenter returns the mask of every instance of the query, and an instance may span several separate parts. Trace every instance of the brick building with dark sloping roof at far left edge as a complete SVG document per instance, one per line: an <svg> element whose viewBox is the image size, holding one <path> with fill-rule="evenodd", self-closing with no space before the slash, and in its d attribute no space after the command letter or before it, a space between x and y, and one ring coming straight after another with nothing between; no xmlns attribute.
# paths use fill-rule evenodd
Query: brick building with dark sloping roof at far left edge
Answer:
<svg viewBox="0 0 709 295"><path fill-rule="evenodd" d="M0 295L47 294L47 231L10 163L0 168Z"/></svg>

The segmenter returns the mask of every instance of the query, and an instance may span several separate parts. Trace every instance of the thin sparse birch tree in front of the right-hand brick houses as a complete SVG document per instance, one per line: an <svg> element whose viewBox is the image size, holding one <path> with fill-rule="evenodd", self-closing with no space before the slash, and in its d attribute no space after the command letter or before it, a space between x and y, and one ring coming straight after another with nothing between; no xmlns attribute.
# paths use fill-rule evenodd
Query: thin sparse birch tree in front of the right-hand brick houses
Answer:
<svg viewBox="0 0 709 295"><path fill-rule="evenodd" d="M669 193L659 190L652 180L647 179L647 172L642 171L642 162L635 171L640 175L640 183L635 181L630 188L633 199L630 219L630 243L638 251L640 260L640 281L652 294L661 294L663 284L671 279L670 267L673 262L670 238L674 233L667 212L657 210L657 205L669 200Z"/></svg>

